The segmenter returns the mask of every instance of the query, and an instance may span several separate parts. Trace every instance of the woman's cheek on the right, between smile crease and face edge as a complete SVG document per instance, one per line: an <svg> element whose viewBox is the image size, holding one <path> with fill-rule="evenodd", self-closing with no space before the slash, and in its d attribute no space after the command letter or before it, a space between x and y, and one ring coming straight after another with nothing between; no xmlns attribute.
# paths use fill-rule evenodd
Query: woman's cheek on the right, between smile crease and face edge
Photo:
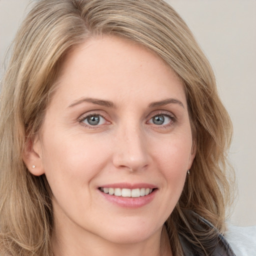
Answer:
<svg viewBox="0 0 256 256"><path fill-rule="evenodd" d="M162 212L164 220L173 211L183 190L190 158L190 145L190 137L184 135L176 139L174 136L172 139L170 137L164 139L155 147L153 160L162 181L160 191L164 195L158 211Z"/></svg>

